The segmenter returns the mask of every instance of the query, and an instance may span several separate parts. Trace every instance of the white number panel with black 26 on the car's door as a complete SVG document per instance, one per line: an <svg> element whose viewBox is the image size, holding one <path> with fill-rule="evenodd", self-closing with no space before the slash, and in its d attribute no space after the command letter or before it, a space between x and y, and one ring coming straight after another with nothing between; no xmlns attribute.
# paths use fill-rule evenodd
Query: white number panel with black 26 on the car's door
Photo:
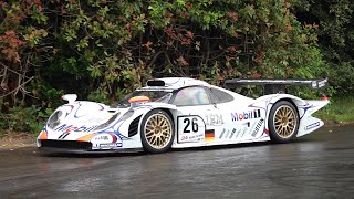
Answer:
<svg viewBox="0 0 354 199"><path fill-rule="evenodd" d="M177 118L178 143L202 142L206 125L200 116L188 115Z"/></svg>

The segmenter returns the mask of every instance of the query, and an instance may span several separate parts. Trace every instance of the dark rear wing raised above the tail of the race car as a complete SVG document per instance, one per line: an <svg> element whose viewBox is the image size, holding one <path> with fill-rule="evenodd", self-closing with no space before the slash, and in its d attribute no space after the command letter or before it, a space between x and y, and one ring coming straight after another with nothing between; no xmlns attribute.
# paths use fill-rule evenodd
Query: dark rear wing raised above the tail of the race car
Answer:
<svg viewBox="0 0 354 199"><path fill-rule="evenodd" d="M289 85L306 85L313 90L325 87L329 78L322 80L250 80L250 78L233 78L227 80L223 84L226 88L235 88L243 85L263 85L264 94L285 93L285 86Z"/></svg>

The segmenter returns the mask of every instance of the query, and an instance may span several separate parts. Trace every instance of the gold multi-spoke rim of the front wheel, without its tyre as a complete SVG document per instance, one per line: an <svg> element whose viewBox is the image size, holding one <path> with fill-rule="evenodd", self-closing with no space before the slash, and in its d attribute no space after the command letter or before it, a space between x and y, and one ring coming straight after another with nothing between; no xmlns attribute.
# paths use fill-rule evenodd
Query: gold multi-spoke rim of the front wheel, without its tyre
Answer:
<svg viewBox="0 0 354 199"><path fill-rule="evenodd" d="M163 114L153 114L145 123L146 142L154 148L164 148L171 138L171 123Z"/></svg>

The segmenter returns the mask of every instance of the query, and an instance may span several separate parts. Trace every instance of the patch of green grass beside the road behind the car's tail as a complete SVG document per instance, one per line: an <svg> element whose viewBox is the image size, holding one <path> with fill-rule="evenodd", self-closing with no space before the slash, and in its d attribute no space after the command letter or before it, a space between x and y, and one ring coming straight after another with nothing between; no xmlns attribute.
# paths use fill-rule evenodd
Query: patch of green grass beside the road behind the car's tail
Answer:
<svg viewBox="0 0 354 199"><path fill-rule="evenodd" d="M325 123L343 124L354 122L354 97L334 97L331 103L313 114Z"/></svg>

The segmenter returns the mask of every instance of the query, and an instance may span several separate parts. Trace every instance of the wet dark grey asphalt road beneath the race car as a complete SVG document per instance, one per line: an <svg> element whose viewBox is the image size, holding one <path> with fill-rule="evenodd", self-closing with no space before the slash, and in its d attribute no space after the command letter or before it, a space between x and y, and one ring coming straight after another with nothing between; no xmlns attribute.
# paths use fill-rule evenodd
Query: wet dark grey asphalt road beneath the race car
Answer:
<svg viewBox="0 0 354 199"><path fill-rule="evenodd" d="M354 198L354 125L160 155L0 150L0 198Z"/></svg>

